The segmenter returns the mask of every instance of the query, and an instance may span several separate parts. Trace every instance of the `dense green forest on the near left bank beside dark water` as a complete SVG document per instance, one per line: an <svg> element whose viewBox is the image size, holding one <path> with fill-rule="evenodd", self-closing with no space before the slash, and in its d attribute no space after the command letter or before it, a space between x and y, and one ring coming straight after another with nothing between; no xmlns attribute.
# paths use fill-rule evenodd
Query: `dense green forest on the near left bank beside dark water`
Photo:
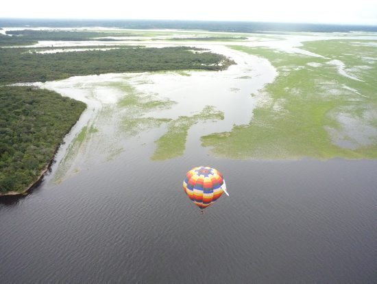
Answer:
<svg viewBox="0 0 377 284"><path fill-rule="evenodd" d="M36 181L86 105L27 86L0 87L0 194Z"/></svg>

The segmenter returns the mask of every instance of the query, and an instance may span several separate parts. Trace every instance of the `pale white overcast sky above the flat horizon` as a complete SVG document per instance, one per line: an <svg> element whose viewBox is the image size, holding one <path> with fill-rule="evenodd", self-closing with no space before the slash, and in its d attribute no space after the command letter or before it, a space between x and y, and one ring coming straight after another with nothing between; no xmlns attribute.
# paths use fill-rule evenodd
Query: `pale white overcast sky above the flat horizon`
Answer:
<svg viewBox="0 0 377 284"><path fill-rule="evenodd" d="M377 0L3 0L0 17L377 25Z"/></svg>

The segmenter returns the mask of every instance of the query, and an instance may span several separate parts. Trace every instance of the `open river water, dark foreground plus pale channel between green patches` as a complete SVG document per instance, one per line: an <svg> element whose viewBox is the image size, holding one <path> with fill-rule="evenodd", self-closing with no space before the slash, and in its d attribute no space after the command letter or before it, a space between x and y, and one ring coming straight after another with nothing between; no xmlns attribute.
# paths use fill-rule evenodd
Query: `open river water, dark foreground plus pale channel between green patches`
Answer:
<svg viewBox="0 0 377 284"><path fill-rule="evenodd" d="M199 137L250 121L264 99L258 90L276 75L267 60L208 47L239 64L190 76L107 74L42 84L83 100L88 110L45 180L27 196L0 200L2 283L376 281L377 161L236 161L208 154ZM250 78L241 78L245 73ZM188 94L199 99L215 89L219 99L203 104L224 119L193 126L183 156L151 161L166 128L131 137L117 131L114 104L121 93L110 83L123 81L176 103L145 117L197 113L203 105L190 104ZM64 162L84 126L99 132ZM112 155L109 147L119 152ZM203 215L182 189L186 171L199 165L223 172L230 193Z"/></svg>

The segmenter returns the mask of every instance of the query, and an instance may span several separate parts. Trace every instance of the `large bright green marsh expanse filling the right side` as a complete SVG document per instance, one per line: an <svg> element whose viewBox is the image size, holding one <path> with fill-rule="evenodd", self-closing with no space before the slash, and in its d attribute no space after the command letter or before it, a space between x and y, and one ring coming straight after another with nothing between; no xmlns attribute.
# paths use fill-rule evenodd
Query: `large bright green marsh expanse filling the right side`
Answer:
<svg viewBox="0 0 377 284"><path fill-rule="evenodd" d="M202 137L202 145L213 154L240 159L377 158L375 47L350 40L301 47L319 57L232 48L267 58L279 75L256 95L260 104L248 125Z"/></svg>

